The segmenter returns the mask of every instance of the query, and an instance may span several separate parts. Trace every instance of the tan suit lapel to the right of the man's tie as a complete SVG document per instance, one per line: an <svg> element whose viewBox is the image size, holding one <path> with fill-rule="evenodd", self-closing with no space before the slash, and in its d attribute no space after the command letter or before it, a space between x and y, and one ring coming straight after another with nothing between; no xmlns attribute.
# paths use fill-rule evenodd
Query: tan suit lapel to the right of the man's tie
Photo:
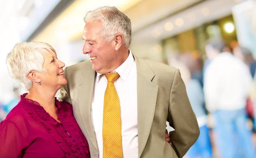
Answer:
<svg viewBox="0 0 256 158"><path fill-rule="evenodd" d="M145 60L135 57L137 66L137 106L139 158L148 141L157 101L158 85L151 82L154 72Z"/></svg>

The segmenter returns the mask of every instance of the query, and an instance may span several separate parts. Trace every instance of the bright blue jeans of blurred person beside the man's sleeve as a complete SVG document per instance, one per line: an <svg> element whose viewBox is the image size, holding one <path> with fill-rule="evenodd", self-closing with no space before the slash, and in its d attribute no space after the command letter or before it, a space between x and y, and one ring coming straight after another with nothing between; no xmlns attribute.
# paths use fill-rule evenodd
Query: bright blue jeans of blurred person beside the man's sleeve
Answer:
<svg viewBox="0 0 256 158"><path fill-rule="evenodd" d="M212 158L212 147L208 127L200 127L200 135L195 144L186 153L186 158Z"/></svg>

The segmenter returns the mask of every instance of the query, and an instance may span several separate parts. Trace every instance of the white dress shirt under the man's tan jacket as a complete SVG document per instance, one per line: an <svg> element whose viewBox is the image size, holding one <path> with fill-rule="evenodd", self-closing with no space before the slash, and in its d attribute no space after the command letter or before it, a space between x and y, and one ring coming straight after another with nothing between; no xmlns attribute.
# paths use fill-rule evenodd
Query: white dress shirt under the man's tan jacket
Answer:
<svg viewBox="0 0 256 158"><path fill-rule="evenodd" d="M123 157L138 158L137 67L131 50L129 50L129 56L125 62L113 72L120 75L114 85L120 102ZM99 147L99 158L103 157L102 124L107 84L107 78L97 73L94 82L91 118Z"/></svg>

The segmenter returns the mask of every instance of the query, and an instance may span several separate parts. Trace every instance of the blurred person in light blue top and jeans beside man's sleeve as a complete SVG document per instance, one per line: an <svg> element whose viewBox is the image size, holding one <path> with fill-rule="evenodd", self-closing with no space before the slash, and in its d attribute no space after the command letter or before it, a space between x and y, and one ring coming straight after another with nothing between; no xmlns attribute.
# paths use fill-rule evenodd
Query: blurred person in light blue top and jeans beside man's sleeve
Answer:
<svg viewBox="0 0 256 158"><path fill-rule="evenodd" d="M189 97L190 104L195 112L200 135L195 144L189 149L184 158L212 158L212 147L209 136L209 128L207 127L207 115L204 110L204 94L200 82L197 79L191 78L191 69L189 66L194 66L195 60L192 55L182 54L179 57L172 57L171 66L180 69L181 78L186 85L186 91Z"/></svg>

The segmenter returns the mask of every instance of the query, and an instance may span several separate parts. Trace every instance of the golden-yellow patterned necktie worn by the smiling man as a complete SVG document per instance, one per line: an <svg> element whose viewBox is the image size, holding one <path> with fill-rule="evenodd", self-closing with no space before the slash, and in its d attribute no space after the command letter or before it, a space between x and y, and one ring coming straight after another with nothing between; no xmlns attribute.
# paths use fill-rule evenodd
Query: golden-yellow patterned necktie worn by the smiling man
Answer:
<svg viewBox="0 0 256 158"><path fill-rule="evenodd" d="M104 96L103 108L103 158L122 158L122 130L119 97L114 82L119 74L104 75L108 79L108 85Z"/></svg>

